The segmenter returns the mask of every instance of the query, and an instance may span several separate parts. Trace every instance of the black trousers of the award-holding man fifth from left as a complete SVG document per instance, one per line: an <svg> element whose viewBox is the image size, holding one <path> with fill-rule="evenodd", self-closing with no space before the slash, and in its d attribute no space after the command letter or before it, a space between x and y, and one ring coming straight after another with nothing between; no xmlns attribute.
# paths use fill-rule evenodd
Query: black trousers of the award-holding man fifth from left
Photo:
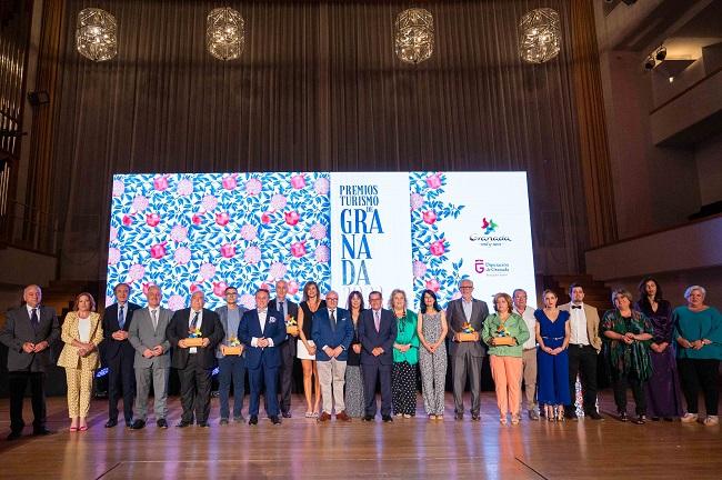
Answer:
<svg viewBox="0 0 722 480"><path fill-rule="evenodd" d="M197 423L208 421L211 412L211 373L212 370L201 366L200 356L197 353L189 354L185 368L178 370L181 381L182 421L193 423L193 413Z"/></svg>

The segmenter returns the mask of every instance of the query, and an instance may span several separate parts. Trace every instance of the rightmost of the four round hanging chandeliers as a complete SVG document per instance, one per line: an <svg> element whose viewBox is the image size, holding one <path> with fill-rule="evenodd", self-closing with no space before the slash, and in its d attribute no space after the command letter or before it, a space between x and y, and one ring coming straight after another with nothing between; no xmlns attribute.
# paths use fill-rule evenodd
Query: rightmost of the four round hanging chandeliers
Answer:
<svg viewBox="0 0 722 480"><path fill-rule="evenodd" d="M562 30L554 9L540 8L519 21L519 56L528 63L543 63L556 57Z"/></svg>

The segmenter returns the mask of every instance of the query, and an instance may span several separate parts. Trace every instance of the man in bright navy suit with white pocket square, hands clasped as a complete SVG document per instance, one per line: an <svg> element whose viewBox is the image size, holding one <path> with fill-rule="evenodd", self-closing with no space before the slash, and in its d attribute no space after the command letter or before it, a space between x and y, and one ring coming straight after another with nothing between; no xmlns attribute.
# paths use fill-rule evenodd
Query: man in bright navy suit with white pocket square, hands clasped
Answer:
<svg viewBox="0 0 722 480"><path fill-rule="evenodd" d="M270 292L255 292L255 309L243 313L238 327L238 339L245 346L245 366L251 383L251 401L248 409L248 424L258 424L261 390L265 384L265 404L273 424L279 419L279 399L275 393L281 354L279 346L285 341L285 321L281 313L269 309Z"/></svg>

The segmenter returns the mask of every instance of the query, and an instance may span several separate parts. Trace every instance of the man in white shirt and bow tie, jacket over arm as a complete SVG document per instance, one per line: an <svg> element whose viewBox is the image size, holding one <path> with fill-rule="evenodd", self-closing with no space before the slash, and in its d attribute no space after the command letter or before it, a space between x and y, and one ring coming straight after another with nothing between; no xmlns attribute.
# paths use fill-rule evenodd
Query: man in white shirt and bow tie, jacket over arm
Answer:
<svg viewBox="0 0 722 480"><path fill-rule="evenodd" d="M571 336L569 340L569 392L572 404L564 406L564 417L576 420L576 374L582 383L584 417L602 420L596 411L596 360L602 349L599 337L599 312L583 302L584 289L579 283L569 287L571 302L559 306L570 313Z"/></svg>

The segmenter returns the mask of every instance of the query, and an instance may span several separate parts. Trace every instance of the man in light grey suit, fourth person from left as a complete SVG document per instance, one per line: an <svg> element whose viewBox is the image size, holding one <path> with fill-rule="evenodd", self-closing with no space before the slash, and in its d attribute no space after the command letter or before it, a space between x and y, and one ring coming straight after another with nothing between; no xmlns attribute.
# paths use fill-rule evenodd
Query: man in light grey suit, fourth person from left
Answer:
<svg viewBox="0 0 722 480"><path fill-rule="evenodd" d="M148 307L136 310L133 322L128 330L128 341L136 349L133 367L136 370L136 420L130 426L132 430L146 427L148 411L148 394L150 381L153 381L153 403L156 408L156 424L168 428L168 376L170 373L170 342L166 338L166 329L170 322L171 312L160 306L162 292L158 286L151 286L146 293Z"/></svg>

